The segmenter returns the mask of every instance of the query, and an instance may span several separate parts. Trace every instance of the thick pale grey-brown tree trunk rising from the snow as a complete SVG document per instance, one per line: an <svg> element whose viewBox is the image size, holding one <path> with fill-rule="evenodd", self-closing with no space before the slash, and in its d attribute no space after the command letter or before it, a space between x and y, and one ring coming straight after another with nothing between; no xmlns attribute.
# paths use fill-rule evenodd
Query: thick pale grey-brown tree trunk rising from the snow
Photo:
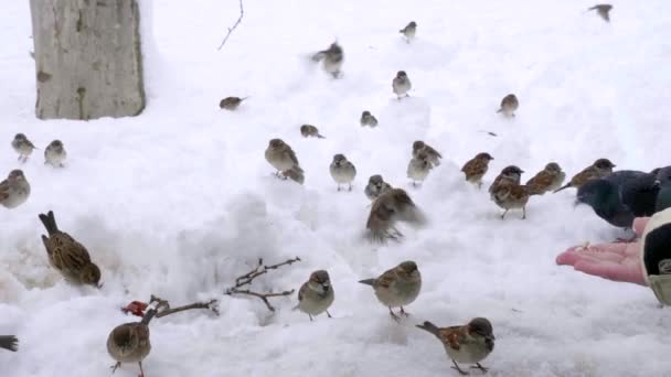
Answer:
<svg viewBox="0 0 671 377"><path fill-rule="evenodd" d="M136 0L30 0L40 119L145 108Z"/></svg>

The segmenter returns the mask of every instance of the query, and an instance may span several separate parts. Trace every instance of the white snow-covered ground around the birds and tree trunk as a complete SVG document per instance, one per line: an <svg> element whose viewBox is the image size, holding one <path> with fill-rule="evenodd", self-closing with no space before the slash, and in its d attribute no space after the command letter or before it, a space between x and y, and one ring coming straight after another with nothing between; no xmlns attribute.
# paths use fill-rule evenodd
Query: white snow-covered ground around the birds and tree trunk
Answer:
<svg viewBox="0 0 671 377"><path fill-rule="evenodd" d="M586 1L247 1L221 52L237 1L153 3L143 14L147 110L86 123L34 118L29 9L2 6L0 173L18 165L9 142L19 131L41 148L58 138L71 157L53 170L38 151L22 166L29 202L0 208L0 334L21 338L19 353L0 352L2 376L109 375L107 334L131 320L118 308L150 293L219 298L221 316L152 322L149 377L449 376L440 344L414 325L473 316L494 326L490 376L671 375L671 315L648 289L555 266L566 247L618 230L574 208L571 191L534 197L526 220L502 222L459 172L480 151L496 158L486 184L511 163L533 173L555 160L569 175L600 157L618 169L669 164L667 1L615 3L610 24L584 12ZM418 37L407 45L396 31L411 20ZM336 37L341 80L306 61ZM401 103L391 91L398 69L414 84ZM508 93L521 101L512 121L494 114ZM230 95L252 97L221 111ZM377 129L360 128L364 109ZM306 122L327 139L300 138ZM305 186L271 175L264 150L276 137L296 150ZM445 155L420 190L405 177L417 139ZM359 170L351 193L328 173L339 152ZM374 173L408 188L430 218L405 229L403 244L360 238ZM102 290L67 286L49 267L36 215L50 208L100 265ZM258 288L298 288L326 268L334 319L310 323L290 311L296 297L277 300L274 316L259 301L222 297L256 258L294 256L303 261ZM406 259L424 286L398 325L356 281ZM125 365L116 376L137 371Z"/></svg>

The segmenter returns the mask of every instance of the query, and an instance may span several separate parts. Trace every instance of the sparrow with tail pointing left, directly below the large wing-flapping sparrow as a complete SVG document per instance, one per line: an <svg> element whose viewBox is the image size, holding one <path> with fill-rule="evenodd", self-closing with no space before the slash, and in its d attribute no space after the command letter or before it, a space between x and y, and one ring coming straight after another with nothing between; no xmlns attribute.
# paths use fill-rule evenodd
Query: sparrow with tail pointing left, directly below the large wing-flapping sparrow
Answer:
<svg viewBox="0 0 671 377"><path fill-rule="evenodd" d="M422 289L422 274L417 265L412 261L404 261L391 270L385 271L376 279L365 279L359 281L362 284L372 286L375 290L377 300L390 309L392 319L398 321L400 317L392 308L401 306L401 315L407 316L403 306L411 304Z"/></svg>

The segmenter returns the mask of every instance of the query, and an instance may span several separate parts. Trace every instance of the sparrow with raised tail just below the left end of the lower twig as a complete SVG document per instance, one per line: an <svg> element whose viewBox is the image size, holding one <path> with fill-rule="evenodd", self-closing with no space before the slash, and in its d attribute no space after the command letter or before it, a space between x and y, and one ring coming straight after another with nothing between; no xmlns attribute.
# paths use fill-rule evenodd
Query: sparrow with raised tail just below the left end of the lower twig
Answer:
<svg viewBox="0 0 671 377"><path fill-rule="evenodd" d="M121 363L138 363L140 365L140 377L145 377L142 360L151 351L149 321L155 315L156 309L150 309L142 321L120 324L109 333L107 353L117 362L110 367L113 374L121 366Z"/></svg>

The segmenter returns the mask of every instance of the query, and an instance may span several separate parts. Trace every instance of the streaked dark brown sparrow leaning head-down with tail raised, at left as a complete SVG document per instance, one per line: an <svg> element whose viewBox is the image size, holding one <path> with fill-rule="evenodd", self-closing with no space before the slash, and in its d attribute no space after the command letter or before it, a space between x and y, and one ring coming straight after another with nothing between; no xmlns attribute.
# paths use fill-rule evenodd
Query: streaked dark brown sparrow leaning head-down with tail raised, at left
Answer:
<svg viewBox="0 0 671 377"><path fill-rule="evenodd" d="M75 284L92 284L100 288L100 269L90 261L90 256L84 245L77 243L67 233L58 230L54 213L40 214L49 237L42 235L49 261L68 282Z"/></svg>

